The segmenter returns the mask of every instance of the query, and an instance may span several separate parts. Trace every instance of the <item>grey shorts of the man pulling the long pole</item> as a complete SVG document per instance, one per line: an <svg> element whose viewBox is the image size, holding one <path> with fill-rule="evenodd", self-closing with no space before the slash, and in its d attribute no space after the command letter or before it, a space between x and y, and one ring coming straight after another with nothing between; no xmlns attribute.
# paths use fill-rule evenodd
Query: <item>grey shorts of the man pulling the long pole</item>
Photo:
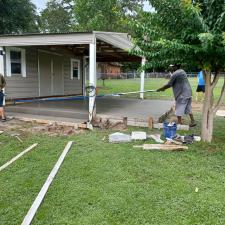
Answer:
<svg viewBox="0 0 225 225"><path fill-rule="evenodd" d="M178 98L176 100L176 116L192 113L192 98Z"/></svg>

